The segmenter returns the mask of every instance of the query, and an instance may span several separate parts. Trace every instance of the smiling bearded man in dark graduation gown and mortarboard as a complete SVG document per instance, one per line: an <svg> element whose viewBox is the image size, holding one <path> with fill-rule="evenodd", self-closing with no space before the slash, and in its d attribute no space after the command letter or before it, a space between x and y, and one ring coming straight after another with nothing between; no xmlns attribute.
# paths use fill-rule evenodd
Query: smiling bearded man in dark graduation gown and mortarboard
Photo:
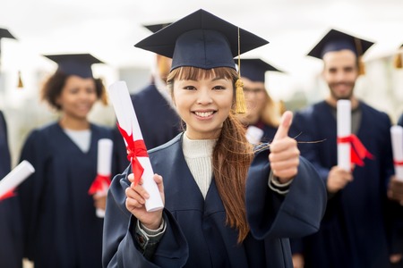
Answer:
<svg viewBox="0 0 403 268"><path fill-rule="evenodd" d="M373 42L330 29L308 54L322 60L322 78L330 94L296 113L292 129L301 142L301 155L315 165L329 197L319 232L293 241L295 257L304 256L305 267L390 265L388 214L394 206L386 196L393 174L390 117L354 94L364 71L361 57L370 46ZM341 99L351 102L351 133L373 155L361 164L352 163L351 171L338 166L336 114Z"/></svg>

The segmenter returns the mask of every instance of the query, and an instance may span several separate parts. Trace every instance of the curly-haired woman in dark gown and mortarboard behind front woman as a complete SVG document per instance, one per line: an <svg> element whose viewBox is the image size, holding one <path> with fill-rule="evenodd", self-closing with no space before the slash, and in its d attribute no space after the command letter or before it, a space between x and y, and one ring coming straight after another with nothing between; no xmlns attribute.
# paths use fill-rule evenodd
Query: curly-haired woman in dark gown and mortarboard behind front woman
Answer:
<svg viewBox="0 0 403 268"><path fill-rule="evenodd" d="M24 256L35 267L101 267L106 197L89 195L97 177L100 138L112 130L88 120L91 107L104 96L94 79L90 54L47 55L57 71L42 88L42 99L60 113L57 121L32 130L21 151L35 173L18 189L24 228Z"/></svg>

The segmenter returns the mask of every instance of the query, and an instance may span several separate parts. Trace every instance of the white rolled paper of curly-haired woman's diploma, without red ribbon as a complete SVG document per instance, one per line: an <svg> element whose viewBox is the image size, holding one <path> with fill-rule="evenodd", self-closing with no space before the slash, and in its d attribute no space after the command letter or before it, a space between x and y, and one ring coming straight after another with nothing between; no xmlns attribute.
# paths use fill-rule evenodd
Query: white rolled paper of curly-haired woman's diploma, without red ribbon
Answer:
<svg viewBox="0 0 403 268"><path fill-rule="evenodd" d="M97 173L101 176L111 176L112 170L112 148L113 142L110 138L100 138L98 141L98 158L97 158ZM104 184L104 188L100 194L106 195L109 186ZM96 214L99 218L105 217L105 210L97 208Z"/></svg>

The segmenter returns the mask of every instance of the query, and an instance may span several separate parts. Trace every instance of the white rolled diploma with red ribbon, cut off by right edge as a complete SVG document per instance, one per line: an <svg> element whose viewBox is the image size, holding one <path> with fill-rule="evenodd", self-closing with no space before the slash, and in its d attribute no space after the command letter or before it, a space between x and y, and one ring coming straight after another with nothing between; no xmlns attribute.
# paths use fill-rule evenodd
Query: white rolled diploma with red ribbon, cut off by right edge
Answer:
<svg viewBox="0 0 403 268"><path fill-rule="evenodd" d="M403 128L401 126L390 127L390 138L393 162L395 164L395 175L398 180L403 181Z"/></svg>

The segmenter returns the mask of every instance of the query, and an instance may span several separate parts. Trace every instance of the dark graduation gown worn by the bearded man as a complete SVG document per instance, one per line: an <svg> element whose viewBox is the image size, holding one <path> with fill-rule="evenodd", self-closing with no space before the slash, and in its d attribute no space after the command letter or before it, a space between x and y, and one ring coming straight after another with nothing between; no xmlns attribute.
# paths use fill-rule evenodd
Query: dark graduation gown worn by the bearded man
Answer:
<svg viewBox="0 0 403 268"><path fill-rule="evenodd" d="M390 118L360 102L362 119L356 136L374 155L357 166L354 180L330 197L321 229L292 241L304 250L305 267L388 267L390 203L386 186L393 172ZM337 121L324 101L296 113L290 136L300 143L301 155L313 163L323 181L337 165ZM320 142L317 142L320 141Z"/></svg>

